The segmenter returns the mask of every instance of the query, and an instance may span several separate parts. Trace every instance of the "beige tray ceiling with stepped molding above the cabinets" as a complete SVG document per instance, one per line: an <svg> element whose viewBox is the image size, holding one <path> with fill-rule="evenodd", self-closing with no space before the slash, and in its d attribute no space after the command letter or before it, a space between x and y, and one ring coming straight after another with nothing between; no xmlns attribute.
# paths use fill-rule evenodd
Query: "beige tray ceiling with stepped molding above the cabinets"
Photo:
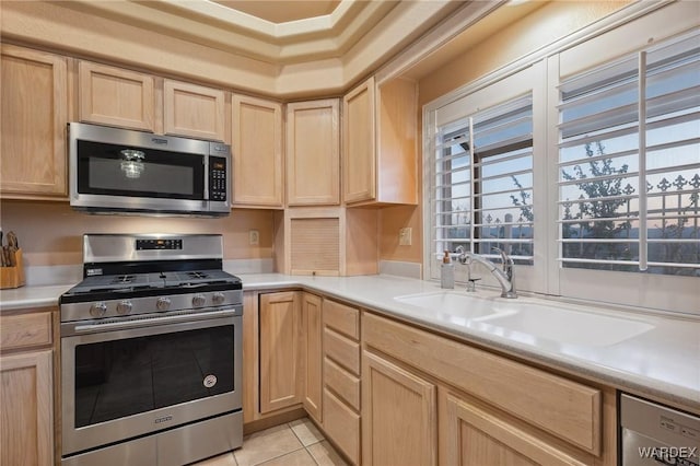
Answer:
<svg viewBox="0 0 700 466"><path fill-rule="evenodd" d="M546 1L511 8L516 0L0 0L0 33L296 98L346 92L399 55L412 63L401 73L421 79ZM411 48L421 37L432 37L430 56L423 45Z"/></svg>

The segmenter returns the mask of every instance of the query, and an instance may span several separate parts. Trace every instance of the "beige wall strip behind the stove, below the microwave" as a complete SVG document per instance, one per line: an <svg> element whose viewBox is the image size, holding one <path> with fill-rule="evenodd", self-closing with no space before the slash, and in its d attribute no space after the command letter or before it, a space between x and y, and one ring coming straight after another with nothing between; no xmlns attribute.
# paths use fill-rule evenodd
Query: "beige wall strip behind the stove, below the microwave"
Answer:
<svg viewBox="0 0 700 466"><path fill-rule="evenodd" d="M223 219L91 215L68 202L0 202L2 231L14 231L27 266L82 264L83 233L221 233L224 259L272 257L271 210L234 209ZM248 245L258 230L259 245Z"/></svg>

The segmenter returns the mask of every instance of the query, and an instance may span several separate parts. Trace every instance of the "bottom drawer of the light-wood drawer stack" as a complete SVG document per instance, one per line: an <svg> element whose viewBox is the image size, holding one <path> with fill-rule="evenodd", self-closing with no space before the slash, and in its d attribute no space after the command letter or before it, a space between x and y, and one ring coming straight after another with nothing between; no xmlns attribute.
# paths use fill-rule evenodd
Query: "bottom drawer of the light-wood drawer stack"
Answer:
<svg viewBox="0 0 700 466"><path fill-rule="evenodd" d="M360 462L360 415L324 389L324 430L353 464Z"/></svg>

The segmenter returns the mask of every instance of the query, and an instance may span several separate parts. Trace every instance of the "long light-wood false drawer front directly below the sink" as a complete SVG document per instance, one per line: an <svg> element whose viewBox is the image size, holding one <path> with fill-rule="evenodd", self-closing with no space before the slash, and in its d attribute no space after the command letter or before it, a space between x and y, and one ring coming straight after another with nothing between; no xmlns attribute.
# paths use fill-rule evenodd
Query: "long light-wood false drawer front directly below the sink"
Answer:
<svg viewBox="0 0 700 466"><path fill-rule="evenodd" d="M600 454L599 389L365 313L365 343L573 445Z"/></svg>

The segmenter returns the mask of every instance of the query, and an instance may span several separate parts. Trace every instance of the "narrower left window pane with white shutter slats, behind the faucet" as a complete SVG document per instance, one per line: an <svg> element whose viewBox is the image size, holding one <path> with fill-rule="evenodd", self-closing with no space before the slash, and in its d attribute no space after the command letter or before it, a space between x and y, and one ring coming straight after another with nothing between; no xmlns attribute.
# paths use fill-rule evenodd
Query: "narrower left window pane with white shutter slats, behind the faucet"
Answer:
<svg viewBox="0 0 700 466"><path fill-rule="evenodd" d="M436 128L435 257L457 246L533 264L533 103L527 94Z"/></svg>

